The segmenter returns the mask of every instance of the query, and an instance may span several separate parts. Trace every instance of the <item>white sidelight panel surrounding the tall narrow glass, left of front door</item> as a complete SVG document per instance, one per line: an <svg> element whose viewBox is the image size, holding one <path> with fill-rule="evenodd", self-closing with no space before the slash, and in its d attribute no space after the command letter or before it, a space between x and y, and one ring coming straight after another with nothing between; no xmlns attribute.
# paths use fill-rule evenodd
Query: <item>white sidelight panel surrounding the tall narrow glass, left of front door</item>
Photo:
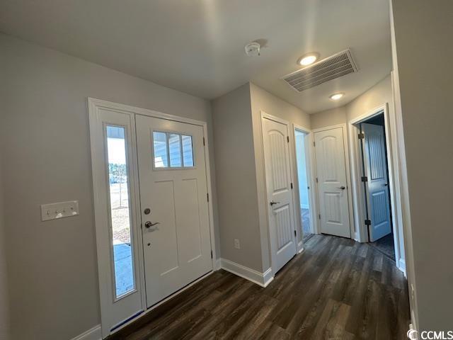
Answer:
<svg viewBox="0 0 453 340"><path fill-rule="evenodd" d="M93 199L95 204L96 246L98 253L99 291L103 338L111 331L144 310L142 304L142 245L138 217L137 159L135 153L134 114L103 108L89 102L91 160L93 168ZM129 214L134 289L117 297L115 293L115 266L113 265L113 232L110 216L107 126L124 129L127 159Z"/></svg>

